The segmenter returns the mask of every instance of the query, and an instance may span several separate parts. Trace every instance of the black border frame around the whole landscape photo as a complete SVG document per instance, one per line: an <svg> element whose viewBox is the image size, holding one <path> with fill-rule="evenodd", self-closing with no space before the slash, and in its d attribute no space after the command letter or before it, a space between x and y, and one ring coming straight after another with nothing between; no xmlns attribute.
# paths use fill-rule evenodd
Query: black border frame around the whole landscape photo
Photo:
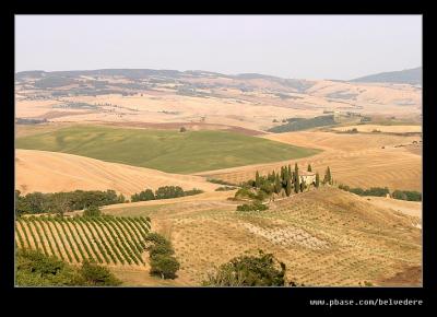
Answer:
<svg viewBox="0 0 437 317"><path fill-rule="evenodd" d="M160 4L161 3L161 4ZM312 2L284 2L269 1L264 2L247 2L239 3L235 1L220 2L140 2L140 1L23 1L19 0L8 4L5 10L1 11L0 32L2 34L2 50L5 52L2 59L1 72L2 81L0 85L0 103L1 119L0 134L1 148L5 149L0 155L1 164L1 198L7 204L2 204L0 211L0 273L1 286L3 291L8 291L13 300L23 300L25 305L16 305L16 310L29 308L45 308L45 310L56 309L44 307L40 301L49 301L50 305L59 305L73 312L76 306L70 302L80 303L72 300L72 296L79 296L83 303L92 304L91 310L96 309L102 312L102 303L106 307L116 308L115 304L119 303L126 306L127 302L133 303L130 307L123 307L123 313L131 308L139 308L145 314L153 306L157 308L182 308L185 305L192 307L201 307L201 304L211 304L211 308L203 310L204 314L228 312L236 313L237 310L249 312L267 310L270 313L276 309L284 309L293 314L297 307L311 307L309 300L369 300L369 298L393 298L393 300L423 300L422 306L376 306L377 308L400 308L402 310L413 308L417 309L426 306L434 306L437 302L437 279L436 279L436 251L435 244L437 242L436 230L433 224L436 224L436 208L433 201L432 180L436 175L435 162L433 153L433 121L436 118L436 107L433 102L436 101L434 78L435 72L433 59L436 55L432 54L430 43L433 42L433 33L430 24L434 22L434 16L429 9L422 0L411 1L312 1ZM209 8L208 8L208 7ZM181 289L165 289L165 287L122 287L122 289L20 289L14 287L14 226L13 226L13 208L14 208L14 15L15 14L422 14L423 15L423 67L424 67L424 90L423 90L423 287L319 287L319 289L201 289L201 287L181 287ZM78 291L79 290L79 291ZM107 300L113 301L107 301ZM105 301L106 300L106 301ZM120 301L121 300L121 301ZM163 301L162 306L157 300ZM3 303L12 303L3 297ZM54 303L55 302L55 303ZM147 304L149 303L149 304ZM235 308L229 307L231 304L236 304ZM79 305L78 305L79 306ZM129 306L129 305L128 305ZM51 306L49 306L51 307ZM319 306L319 309L336 310L347 306ZM351 307L351 306L349 306ZM359 310L367 309L370 306L355 306ZM91 312L90 310L90 312ZM162 310L162 312L164 312ZM79 310L85 313L85 310ZM116 310L114 309L114 313ZM61 314L63 312L58 312Z"/></svg>

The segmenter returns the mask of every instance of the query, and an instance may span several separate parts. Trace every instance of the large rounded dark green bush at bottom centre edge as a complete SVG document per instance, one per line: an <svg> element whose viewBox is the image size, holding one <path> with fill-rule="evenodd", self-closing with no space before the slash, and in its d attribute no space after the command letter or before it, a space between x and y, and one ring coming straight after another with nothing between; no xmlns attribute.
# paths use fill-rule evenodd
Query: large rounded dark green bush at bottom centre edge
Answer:
<svg viewBox="0 0 437 317"><path fill-rule="evenodd" d="M202 282L205 286L284 286L286 267L272 254L241 256L218 267Z"/></svg>

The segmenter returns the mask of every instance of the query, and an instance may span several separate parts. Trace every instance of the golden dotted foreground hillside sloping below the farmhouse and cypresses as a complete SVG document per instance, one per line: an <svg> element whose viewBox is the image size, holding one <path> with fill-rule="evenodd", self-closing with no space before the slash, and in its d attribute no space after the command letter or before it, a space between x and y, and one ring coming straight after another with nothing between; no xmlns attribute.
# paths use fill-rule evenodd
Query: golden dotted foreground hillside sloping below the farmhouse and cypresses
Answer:
<svg viewBox="0 0 437 317"><path fill-rule="evenodd" d="M403 285L421 284L418 218L328 187L276 200L263 212L236 212L238 202L221 195L104 212L153 219L153 231L172 239L181 262L175 284L199 285L213 268L258 248L273 253L286 263L287 278L306 285L389 285L388 278L406 271L416 273L406 274ZM149 283L134 272L129 279Z"/></svg>

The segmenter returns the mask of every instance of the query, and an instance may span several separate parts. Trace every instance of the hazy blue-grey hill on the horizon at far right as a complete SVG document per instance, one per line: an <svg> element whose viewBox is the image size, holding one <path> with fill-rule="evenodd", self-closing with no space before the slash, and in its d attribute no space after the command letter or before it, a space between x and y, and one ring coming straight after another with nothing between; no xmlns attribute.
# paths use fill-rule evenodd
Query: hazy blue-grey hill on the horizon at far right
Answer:
<svg viewBox="0 0 437 317"><path fill-rule="evenodd" d="M401 71L380 72L351 80L351 82L403 83L422 85L422 67Z"/></svg>

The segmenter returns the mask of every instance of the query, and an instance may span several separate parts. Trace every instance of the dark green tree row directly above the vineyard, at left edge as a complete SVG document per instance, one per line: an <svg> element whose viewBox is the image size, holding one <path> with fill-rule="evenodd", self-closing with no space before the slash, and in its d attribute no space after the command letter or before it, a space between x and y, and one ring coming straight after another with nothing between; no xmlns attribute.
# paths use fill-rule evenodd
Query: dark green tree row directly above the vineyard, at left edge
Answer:
<svg viewBox="0 0 437 317"><path fill-rule="evenodd" d="M29 192L25 196L15 190L15 212L26 213L63 213L87 209L92 206L101 207L125 202L125 196L117 196L115 190L75 190L67 192Z"/></svg>

